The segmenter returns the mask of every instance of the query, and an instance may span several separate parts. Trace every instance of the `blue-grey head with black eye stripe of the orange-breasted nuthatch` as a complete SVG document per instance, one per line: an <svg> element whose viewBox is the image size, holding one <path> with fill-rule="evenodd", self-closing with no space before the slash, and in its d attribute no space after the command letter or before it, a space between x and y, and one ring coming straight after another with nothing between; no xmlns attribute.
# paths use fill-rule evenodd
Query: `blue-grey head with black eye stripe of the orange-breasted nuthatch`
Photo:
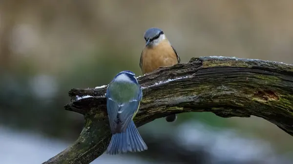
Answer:
<svg viewBox="0 0 293 164"><path fill-rule="evenodd" d="M159 28L149 28L145 32L146 46L159 44L166 38L164 32Z"/></svg>

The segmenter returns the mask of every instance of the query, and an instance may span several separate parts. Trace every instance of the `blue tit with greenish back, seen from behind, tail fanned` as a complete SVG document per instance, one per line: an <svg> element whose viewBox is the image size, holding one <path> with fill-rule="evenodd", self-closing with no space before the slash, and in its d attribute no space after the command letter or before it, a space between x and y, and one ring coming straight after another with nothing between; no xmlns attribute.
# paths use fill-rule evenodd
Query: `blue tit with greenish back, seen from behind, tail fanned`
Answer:
<svg viewBox="0 0 293 164"><path fill-rule="evenodd" d="M106 91L107 112L112 133L107 154L144 151L146 143L132 119L143 97L140 84L131 71L118 73Z"/></svg>

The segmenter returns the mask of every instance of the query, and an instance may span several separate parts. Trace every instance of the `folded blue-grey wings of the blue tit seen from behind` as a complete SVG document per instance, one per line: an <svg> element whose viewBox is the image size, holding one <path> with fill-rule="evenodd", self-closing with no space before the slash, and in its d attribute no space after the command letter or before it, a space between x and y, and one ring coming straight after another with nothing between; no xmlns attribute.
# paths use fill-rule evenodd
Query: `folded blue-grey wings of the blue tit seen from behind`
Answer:
<svg viewBox="0 0 293 164"><path fill-rule="evenodd" d="M139 104L140 98L123 104L107 98L107 112L112 133L126 130L133 115L136 114Z"/></svg>

